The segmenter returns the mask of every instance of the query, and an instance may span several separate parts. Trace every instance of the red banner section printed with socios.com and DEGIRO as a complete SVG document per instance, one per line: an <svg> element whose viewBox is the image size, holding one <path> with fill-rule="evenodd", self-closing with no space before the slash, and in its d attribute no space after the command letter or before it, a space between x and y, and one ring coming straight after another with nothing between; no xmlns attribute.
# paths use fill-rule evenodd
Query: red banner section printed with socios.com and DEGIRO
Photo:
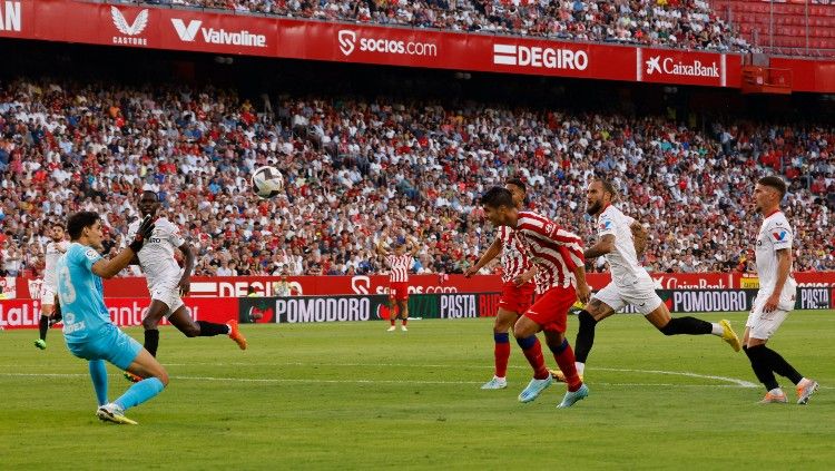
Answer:
<svg viewBox="0 0 835 471"><path fill-rule="evenodd" d="M278 56L342 62L635 80L635 48L283 20Z"/></svg>

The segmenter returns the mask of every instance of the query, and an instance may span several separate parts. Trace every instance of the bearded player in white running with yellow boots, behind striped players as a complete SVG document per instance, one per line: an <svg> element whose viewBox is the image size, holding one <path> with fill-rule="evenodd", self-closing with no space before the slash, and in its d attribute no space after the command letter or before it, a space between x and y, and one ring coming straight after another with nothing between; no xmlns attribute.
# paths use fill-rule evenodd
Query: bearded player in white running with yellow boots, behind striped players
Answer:
<svg viewBox="0 0 835 471"><path fill-rule="evenodd" d="M665 335L714 334L739 351L739 338L728 321L709 323L696 317L670 317L667 305L655 292L652 278L640 263L633 233L644 236L640 223L612 206L615 187L605 179L595 179L587 189L586 212L597 216L598 242L587 248L583 256L596 258L606 256L611 267L611 283L591 296L589 304L580 311L580 328L574 340L577 371L583 374L586 360L595 342L595 327L626 305L631 305ZM640 245L640 244L639 244ZM558 380L562 380L557 375Z"/></svg>

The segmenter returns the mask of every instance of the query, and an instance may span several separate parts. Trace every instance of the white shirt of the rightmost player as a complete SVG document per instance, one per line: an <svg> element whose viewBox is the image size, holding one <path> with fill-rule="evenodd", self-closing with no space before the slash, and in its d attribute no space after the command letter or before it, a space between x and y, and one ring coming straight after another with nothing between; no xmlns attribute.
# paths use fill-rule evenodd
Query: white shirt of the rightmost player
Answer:
<svg viewBox="0 0 835 471"><path fill-rule="evenodd" d="M777 283L777 251L788 248L789 257L792 256L792 226L783 212L776 210L763 220L757 235L757 276L759 276L759 292L769 296L774 292L774 285ZM789 277L783 286L786 295L794 295L796 283L792 278L790 268ZM783 297L783 296L780 296Z"/></svg>

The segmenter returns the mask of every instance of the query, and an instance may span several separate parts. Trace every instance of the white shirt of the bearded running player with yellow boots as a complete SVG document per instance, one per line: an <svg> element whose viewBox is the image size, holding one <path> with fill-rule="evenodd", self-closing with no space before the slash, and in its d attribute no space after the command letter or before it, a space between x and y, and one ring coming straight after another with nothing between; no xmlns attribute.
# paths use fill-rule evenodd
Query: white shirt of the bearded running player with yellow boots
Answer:
<svg viewBox="0 0 835 471"><path fill-rule="evenodd" d="M615 249L606 254L606 261L611 267L611 279L619 287L632 286L641 279L651 279L647 269L638 263L630 227L632 223L635 219L612 205L607 206L597 219L598 237L615 236Z"/></svg>

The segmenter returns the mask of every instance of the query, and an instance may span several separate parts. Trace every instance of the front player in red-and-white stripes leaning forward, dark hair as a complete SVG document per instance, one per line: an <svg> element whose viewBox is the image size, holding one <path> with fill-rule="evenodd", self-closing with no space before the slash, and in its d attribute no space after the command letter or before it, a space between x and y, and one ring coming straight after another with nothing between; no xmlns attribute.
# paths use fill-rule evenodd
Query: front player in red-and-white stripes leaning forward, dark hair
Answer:
<svg viewBox="0 0 835 471"><path fill-rule="evenodd" d="M533 367L533 379L519 394L519 400L533 401L553 382L536 335L543 331L546 343L568 382L568 392L559 406L571 406L589 394L589 389L577 374L574 353L566 338L568 310L578 297L583 303L589 301L582 241L542 215L520 212L507 188L490 188L482 196L481 205L487 218L495 226L515 229L517 238L522 242L538 269L539 296L513 325L513 335Z"/></svg>

